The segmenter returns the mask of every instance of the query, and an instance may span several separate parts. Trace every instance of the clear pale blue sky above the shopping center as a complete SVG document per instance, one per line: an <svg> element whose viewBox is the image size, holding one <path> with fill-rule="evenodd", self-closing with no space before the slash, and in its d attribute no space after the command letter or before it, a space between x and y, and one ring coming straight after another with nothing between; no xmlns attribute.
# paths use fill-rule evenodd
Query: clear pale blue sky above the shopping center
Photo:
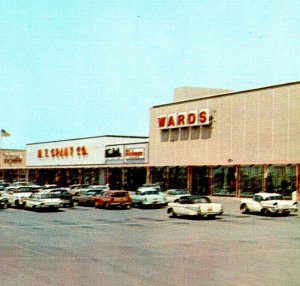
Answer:
<svg viewBox="0 0 300 286"><path fill-rule="evenodd" d="M148 136L180 86L300 81L300 1L0 2L2 148Z"/></svg>

